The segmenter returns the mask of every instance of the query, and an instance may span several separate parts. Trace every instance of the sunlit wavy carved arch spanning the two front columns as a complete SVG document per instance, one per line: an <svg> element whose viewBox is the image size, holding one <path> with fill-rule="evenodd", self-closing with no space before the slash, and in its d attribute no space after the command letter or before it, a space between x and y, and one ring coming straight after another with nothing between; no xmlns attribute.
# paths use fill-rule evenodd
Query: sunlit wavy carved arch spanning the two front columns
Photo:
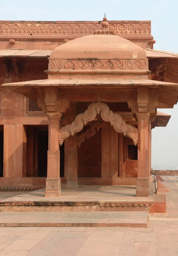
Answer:
<svg viewBox="0 0 178 256"><path fill-rule="evenodd" d="M113 113L109 110L108 105L102 102L93 102L88 109L76 116L75 121L71 125L66 125L59 130L58 140L62 145L63 141L70 135L74 135L83 129L83 125L93 121L97 115L101 116L103 121L110 122L115 131L123 133L124 136L133 140L134 145L138 142L138 129L132 125L127 125L119 114Z"/></svg>

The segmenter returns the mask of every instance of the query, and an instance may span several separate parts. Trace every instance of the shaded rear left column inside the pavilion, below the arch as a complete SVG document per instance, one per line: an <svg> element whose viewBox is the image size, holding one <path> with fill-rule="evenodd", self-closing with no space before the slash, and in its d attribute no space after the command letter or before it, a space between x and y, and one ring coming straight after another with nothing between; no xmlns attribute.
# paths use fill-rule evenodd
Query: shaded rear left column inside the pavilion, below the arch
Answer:
<svg viewBox="0 0 178 256"><path fill-rule="evenodd" d="M77 135L74 134L66 143L68 143L68 156L67 156L67 180L66 189L78 188L78 152L76 144Z"/></svg>

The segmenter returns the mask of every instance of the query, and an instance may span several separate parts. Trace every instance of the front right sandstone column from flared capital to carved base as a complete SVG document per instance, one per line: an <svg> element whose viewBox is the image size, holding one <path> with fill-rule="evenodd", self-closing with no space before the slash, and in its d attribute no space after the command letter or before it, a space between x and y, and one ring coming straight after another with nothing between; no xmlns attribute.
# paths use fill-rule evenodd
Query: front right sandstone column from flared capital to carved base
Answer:
<svg viewBox="0 0 178 256"><path fill-rule="evenodd" d="M138 178L136 196L149 196L149 116L150 113L136 113L138 119Z"/></svg>

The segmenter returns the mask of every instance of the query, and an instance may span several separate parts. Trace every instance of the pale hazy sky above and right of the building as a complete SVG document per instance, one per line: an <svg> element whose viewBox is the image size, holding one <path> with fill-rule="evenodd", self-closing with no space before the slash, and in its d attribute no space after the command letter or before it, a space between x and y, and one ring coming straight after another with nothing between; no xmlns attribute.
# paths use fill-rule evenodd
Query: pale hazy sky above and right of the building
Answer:
<svg viewBox="0 0 178 256"><path fill-rule="evenodd" d="M0 20L151 20L155 49L178 53L178 0L0 0ZM178 106L152 130L152 167L178 167Z"/></svg>

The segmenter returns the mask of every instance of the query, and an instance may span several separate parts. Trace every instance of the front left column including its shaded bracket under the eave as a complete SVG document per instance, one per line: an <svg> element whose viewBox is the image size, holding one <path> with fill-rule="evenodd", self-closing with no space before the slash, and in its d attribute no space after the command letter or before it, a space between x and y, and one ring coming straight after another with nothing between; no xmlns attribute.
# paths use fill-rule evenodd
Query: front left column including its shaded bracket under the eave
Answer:
<svg viewBox="0 0 178 256"><path fill-rule="evenodd" d="M57 87L45 87L37 89L38 104L49 119L49 150L46 178L45 197L59 197L61 195L60 184L60 149L58 133L60 119L66 113L70 102L60 100Z"/></svg>

